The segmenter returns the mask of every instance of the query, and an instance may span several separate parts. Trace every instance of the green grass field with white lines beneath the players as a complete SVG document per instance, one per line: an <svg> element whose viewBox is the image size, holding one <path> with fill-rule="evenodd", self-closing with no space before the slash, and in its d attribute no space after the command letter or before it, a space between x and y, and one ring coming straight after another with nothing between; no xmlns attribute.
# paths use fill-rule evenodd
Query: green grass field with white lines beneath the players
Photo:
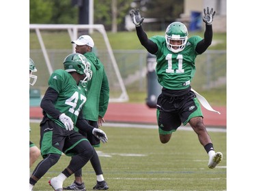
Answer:
<svg viewBox="0 0 256 191"><path fill-rule="evenodd" d="M31 123L30 126L30 140L39 146L39 124ZM208 155L193 131L178 130L169 143L162 144L155 128L103 126L102 130L109 142L96 150L109 190L227 190L227 133L209 131L216 152L223 152L223 161L216 169L208 169ZM41 159L31 167L31 173ZM48 180L59 175L69 161L70 157L61 156L33 190L53 190L48 186ZM92 190L96 184L90 163L83 167L83 180L87 190ZM73 175L64 181L63 186L72 181Z"/></svg>

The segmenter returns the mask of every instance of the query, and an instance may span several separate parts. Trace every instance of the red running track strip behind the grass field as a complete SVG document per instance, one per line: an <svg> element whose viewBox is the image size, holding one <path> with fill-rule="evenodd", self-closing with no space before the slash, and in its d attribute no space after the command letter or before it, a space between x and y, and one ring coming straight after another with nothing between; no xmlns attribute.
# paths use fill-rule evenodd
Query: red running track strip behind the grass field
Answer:
<svg viewBox="0 0 256 191"><path fill-rule="evenodd" d="M213 109L220 111L221 114L208 111L202 107L205 126L227 127L226 107L213 107ZM30 118L42 119L42 109L40 107L30 107ZM156 109L149 108L143 103L109 103L104 120L106 122L157 124Z"/></svg>

